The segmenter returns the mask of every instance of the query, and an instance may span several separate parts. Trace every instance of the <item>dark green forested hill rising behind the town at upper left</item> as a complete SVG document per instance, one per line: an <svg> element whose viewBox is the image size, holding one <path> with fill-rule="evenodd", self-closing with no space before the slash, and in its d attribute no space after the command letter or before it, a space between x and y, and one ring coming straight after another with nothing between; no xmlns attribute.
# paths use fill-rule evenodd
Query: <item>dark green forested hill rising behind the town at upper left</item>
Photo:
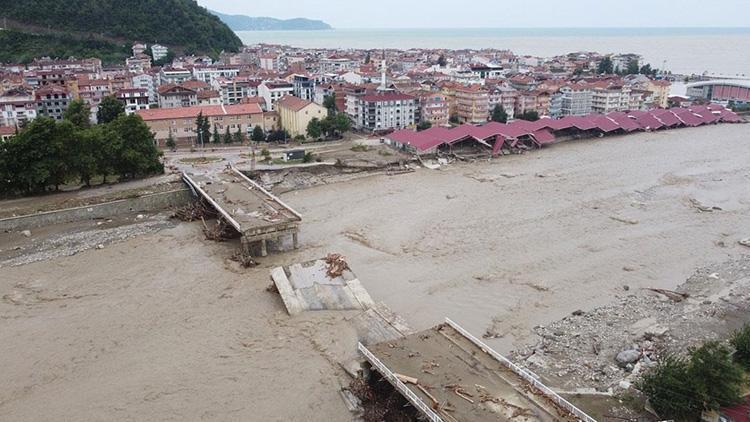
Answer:
<svg viewBox="0 0 750 422"><path fill-rule="evenodd" d="M0 0L0 24L4 21L13 30L58 39L141 41L206 54L242 46L229 27L194 0ZM0 53L3 48L0 43Z"/></svg>

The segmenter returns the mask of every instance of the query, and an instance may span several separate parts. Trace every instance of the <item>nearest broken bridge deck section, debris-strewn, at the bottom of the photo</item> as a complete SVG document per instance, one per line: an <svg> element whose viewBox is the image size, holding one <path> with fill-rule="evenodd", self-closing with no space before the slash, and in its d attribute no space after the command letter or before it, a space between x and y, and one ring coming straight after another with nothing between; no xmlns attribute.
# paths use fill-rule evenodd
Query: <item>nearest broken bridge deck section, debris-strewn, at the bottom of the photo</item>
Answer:
<svg viewBox="0 0 750 422"><path fill-rule="evenodd" d="M450 323L374 346L360 345L360 350L376 369L390 372L389 381L429 420L590 421L534 388ZM399 376L416 378L419 386L394 383Z"/></svg>

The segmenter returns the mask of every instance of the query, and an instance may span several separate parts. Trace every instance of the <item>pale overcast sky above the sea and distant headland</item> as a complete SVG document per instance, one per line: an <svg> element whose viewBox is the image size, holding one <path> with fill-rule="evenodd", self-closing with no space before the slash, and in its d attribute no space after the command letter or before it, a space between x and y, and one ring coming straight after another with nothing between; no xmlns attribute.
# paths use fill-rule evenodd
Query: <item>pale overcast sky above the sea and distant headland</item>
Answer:
<svg viewBox="0 0 750 422"><path fill-rule="evenodd" d="M750 0L198 0L229 14L336 28L750 26Z"/></svg>

